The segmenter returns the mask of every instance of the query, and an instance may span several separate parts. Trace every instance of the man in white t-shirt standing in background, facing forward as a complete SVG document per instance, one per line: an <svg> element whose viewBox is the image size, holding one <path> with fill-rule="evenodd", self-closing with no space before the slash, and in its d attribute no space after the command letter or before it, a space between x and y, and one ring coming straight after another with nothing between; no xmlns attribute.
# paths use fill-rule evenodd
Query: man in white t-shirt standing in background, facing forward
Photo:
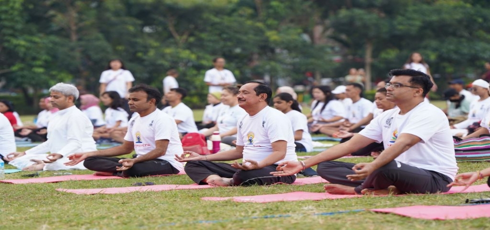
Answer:
<svg viewBox="0 0 490 230"><path fill-rule="evenodd" d="M209 85L209 92L221 92L223 86L234 84L236 82L233 73L224 68L224 58L216 57L212 59L214 68L206 71L204 82Z"/></svg>

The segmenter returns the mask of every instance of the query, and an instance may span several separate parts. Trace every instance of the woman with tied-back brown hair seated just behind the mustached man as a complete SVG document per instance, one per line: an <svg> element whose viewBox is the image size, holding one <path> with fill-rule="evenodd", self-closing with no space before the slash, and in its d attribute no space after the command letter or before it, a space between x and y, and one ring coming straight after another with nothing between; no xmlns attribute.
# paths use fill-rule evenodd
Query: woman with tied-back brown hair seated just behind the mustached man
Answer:
<svg viewBox="0 0 490 230"><path fill-rule="evenodd" d="M224 105L228 105L228 107L221 109L216 120L216 125L202 131L202 134L210 136L212 135L212 132L219 131L221 143L235 146L233 140L236 140L236 123L239 118L246 114L245 110L238 106L236 95L238 95L237 87L231 85L223 87L223 90L221 91L221 102Z"/></svg>

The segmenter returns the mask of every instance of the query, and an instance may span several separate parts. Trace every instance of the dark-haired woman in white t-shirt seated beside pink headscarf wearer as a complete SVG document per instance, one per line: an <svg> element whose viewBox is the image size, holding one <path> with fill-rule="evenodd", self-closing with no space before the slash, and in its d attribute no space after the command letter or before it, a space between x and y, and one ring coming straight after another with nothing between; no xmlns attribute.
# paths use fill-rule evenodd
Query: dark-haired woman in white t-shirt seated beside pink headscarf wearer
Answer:
<svg viewBox="0 0 490 230"><path fill-rule="evenodd" d="M100 96L105 109L105 125L93 130L94 140L112 139L112 134L127 128L127 112L122 108L122 99L116 91L107 91Z"/></svg>

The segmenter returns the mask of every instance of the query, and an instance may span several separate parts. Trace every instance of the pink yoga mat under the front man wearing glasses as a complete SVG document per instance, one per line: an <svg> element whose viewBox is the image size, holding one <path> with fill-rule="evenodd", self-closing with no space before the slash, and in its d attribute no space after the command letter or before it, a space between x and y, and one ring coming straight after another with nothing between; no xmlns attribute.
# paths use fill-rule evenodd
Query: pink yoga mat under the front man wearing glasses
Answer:
<svg viewBox="0 0 490 230"><path fill-rule="evenodd" d="M464 186L452 187L448 192L441 194L451 194L461 192ZM462 191L462 193L469 192L481 192L490 191L490 188L486 184L473 185L468 189ZM351 198L351 197L362 197L363 195L334 195L327 192L306 192L306 191L295 191L280 194L265 194L265 195L251 195L251 196L234 196L234 197L202 197L204 200L228 200L231 199L236 202L256 202L256 203L266 203L266 202L277 202L277 201L298 201L298 200L322 200L322 199L341 199L341 198Z"/></svg>

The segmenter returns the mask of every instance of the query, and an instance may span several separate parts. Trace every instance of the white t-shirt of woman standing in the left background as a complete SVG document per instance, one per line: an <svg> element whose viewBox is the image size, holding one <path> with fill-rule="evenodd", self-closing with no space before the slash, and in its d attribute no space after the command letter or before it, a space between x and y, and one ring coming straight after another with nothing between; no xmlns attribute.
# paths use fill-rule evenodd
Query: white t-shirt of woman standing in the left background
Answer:
<svg viewBox="0 0 490 230"><path fill-rule="evenodd" d="M121 98L127 94L126 83L134 81L134 76L126 69L107 69L100 74L100 83L106 83L105 91L116 91Z"/></svg>

